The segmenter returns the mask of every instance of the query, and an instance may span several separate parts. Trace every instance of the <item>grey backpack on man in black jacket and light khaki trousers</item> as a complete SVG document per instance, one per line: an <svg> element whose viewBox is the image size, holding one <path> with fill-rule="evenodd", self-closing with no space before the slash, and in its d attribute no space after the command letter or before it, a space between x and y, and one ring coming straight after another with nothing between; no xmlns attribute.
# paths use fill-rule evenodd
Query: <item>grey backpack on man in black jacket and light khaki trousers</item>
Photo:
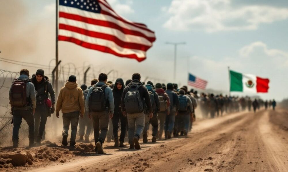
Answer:
<svg viewBox="0 0 288 172"><path fill-rule="evenodd" d="M134 85L133 85L134 86ZM142 84L139 84L136 86L136 88L132 88L132 85L128 85L128 91L125 94L124 103L125 103L125 109L128 114L136 114L143 112L144 105L143 101L141 100L140 93L139 93L139 87L141 87Z"/></svg>

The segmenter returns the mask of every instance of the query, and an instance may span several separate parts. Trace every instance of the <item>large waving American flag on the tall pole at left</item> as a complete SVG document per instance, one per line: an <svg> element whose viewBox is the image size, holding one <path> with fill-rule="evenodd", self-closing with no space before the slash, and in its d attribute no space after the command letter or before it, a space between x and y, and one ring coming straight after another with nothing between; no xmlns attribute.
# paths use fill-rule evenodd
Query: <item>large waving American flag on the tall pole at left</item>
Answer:
<svg viewBox="0 0 288 172"><path fill-rule="evenodd" d="M141 62L156 37L145 24L118 15L106 0L59 0L58 40Z"/></svg>

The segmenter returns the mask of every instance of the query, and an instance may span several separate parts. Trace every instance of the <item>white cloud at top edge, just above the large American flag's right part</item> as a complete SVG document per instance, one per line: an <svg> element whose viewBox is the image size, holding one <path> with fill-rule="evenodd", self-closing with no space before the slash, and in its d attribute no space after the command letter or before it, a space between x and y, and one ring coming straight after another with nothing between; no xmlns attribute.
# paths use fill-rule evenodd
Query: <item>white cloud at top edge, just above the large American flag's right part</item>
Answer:
<svg viewBox="0 0 288 172"><path fill-rule="evenodd" d="M119 0L108 0L108 3L116 11L116 13L120 15L127 15L135 12L131 7L133 4L133 1L131 0L126 0L125 3L120 3Z"/></svg>

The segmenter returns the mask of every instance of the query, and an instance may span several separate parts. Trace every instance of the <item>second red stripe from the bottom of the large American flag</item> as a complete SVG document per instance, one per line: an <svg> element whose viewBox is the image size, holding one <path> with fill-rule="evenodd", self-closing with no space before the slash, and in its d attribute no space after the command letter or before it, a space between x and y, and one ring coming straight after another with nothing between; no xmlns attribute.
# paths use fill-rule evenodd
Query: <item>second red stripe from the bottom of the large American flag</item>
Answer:
<svg viewBox="0 0 288 172"><path fill-rule="evenodd" d="M150 48L150 46L145 46L145 45L131 43L131 42L124 42L113 35L103 34L101 32L93 32L93 31L82 29L82 28L77 28L74 26L59 24L59 30L60 29L76 32L76 33L83 34L86 36L91 36L94 38L110 40L110 41L115 42L115 44L117 44L118 46L122 48L131 48L131 49L142 50L142 51L147 51Z"/></svg>

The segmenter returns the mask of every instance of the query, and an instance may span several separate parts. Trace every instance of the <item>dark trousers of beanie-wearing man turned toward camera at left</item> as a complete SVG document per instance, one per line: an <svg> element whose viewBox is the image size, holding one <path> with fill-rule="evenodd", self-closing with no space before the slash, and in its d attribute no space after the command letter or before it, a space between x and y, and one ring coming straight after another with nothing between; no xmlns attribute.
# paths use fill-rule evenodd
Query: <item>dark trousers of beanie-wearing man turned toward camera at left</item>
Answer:
<svg viewBox="0 0 288 172"><path fill-rule="evenodd" d="M46 104L37 105L35 109L34 119L35 119L35 136L38 141L42 139L43 132L45 130L45 125L48 116L48 107Z"/></svg>

